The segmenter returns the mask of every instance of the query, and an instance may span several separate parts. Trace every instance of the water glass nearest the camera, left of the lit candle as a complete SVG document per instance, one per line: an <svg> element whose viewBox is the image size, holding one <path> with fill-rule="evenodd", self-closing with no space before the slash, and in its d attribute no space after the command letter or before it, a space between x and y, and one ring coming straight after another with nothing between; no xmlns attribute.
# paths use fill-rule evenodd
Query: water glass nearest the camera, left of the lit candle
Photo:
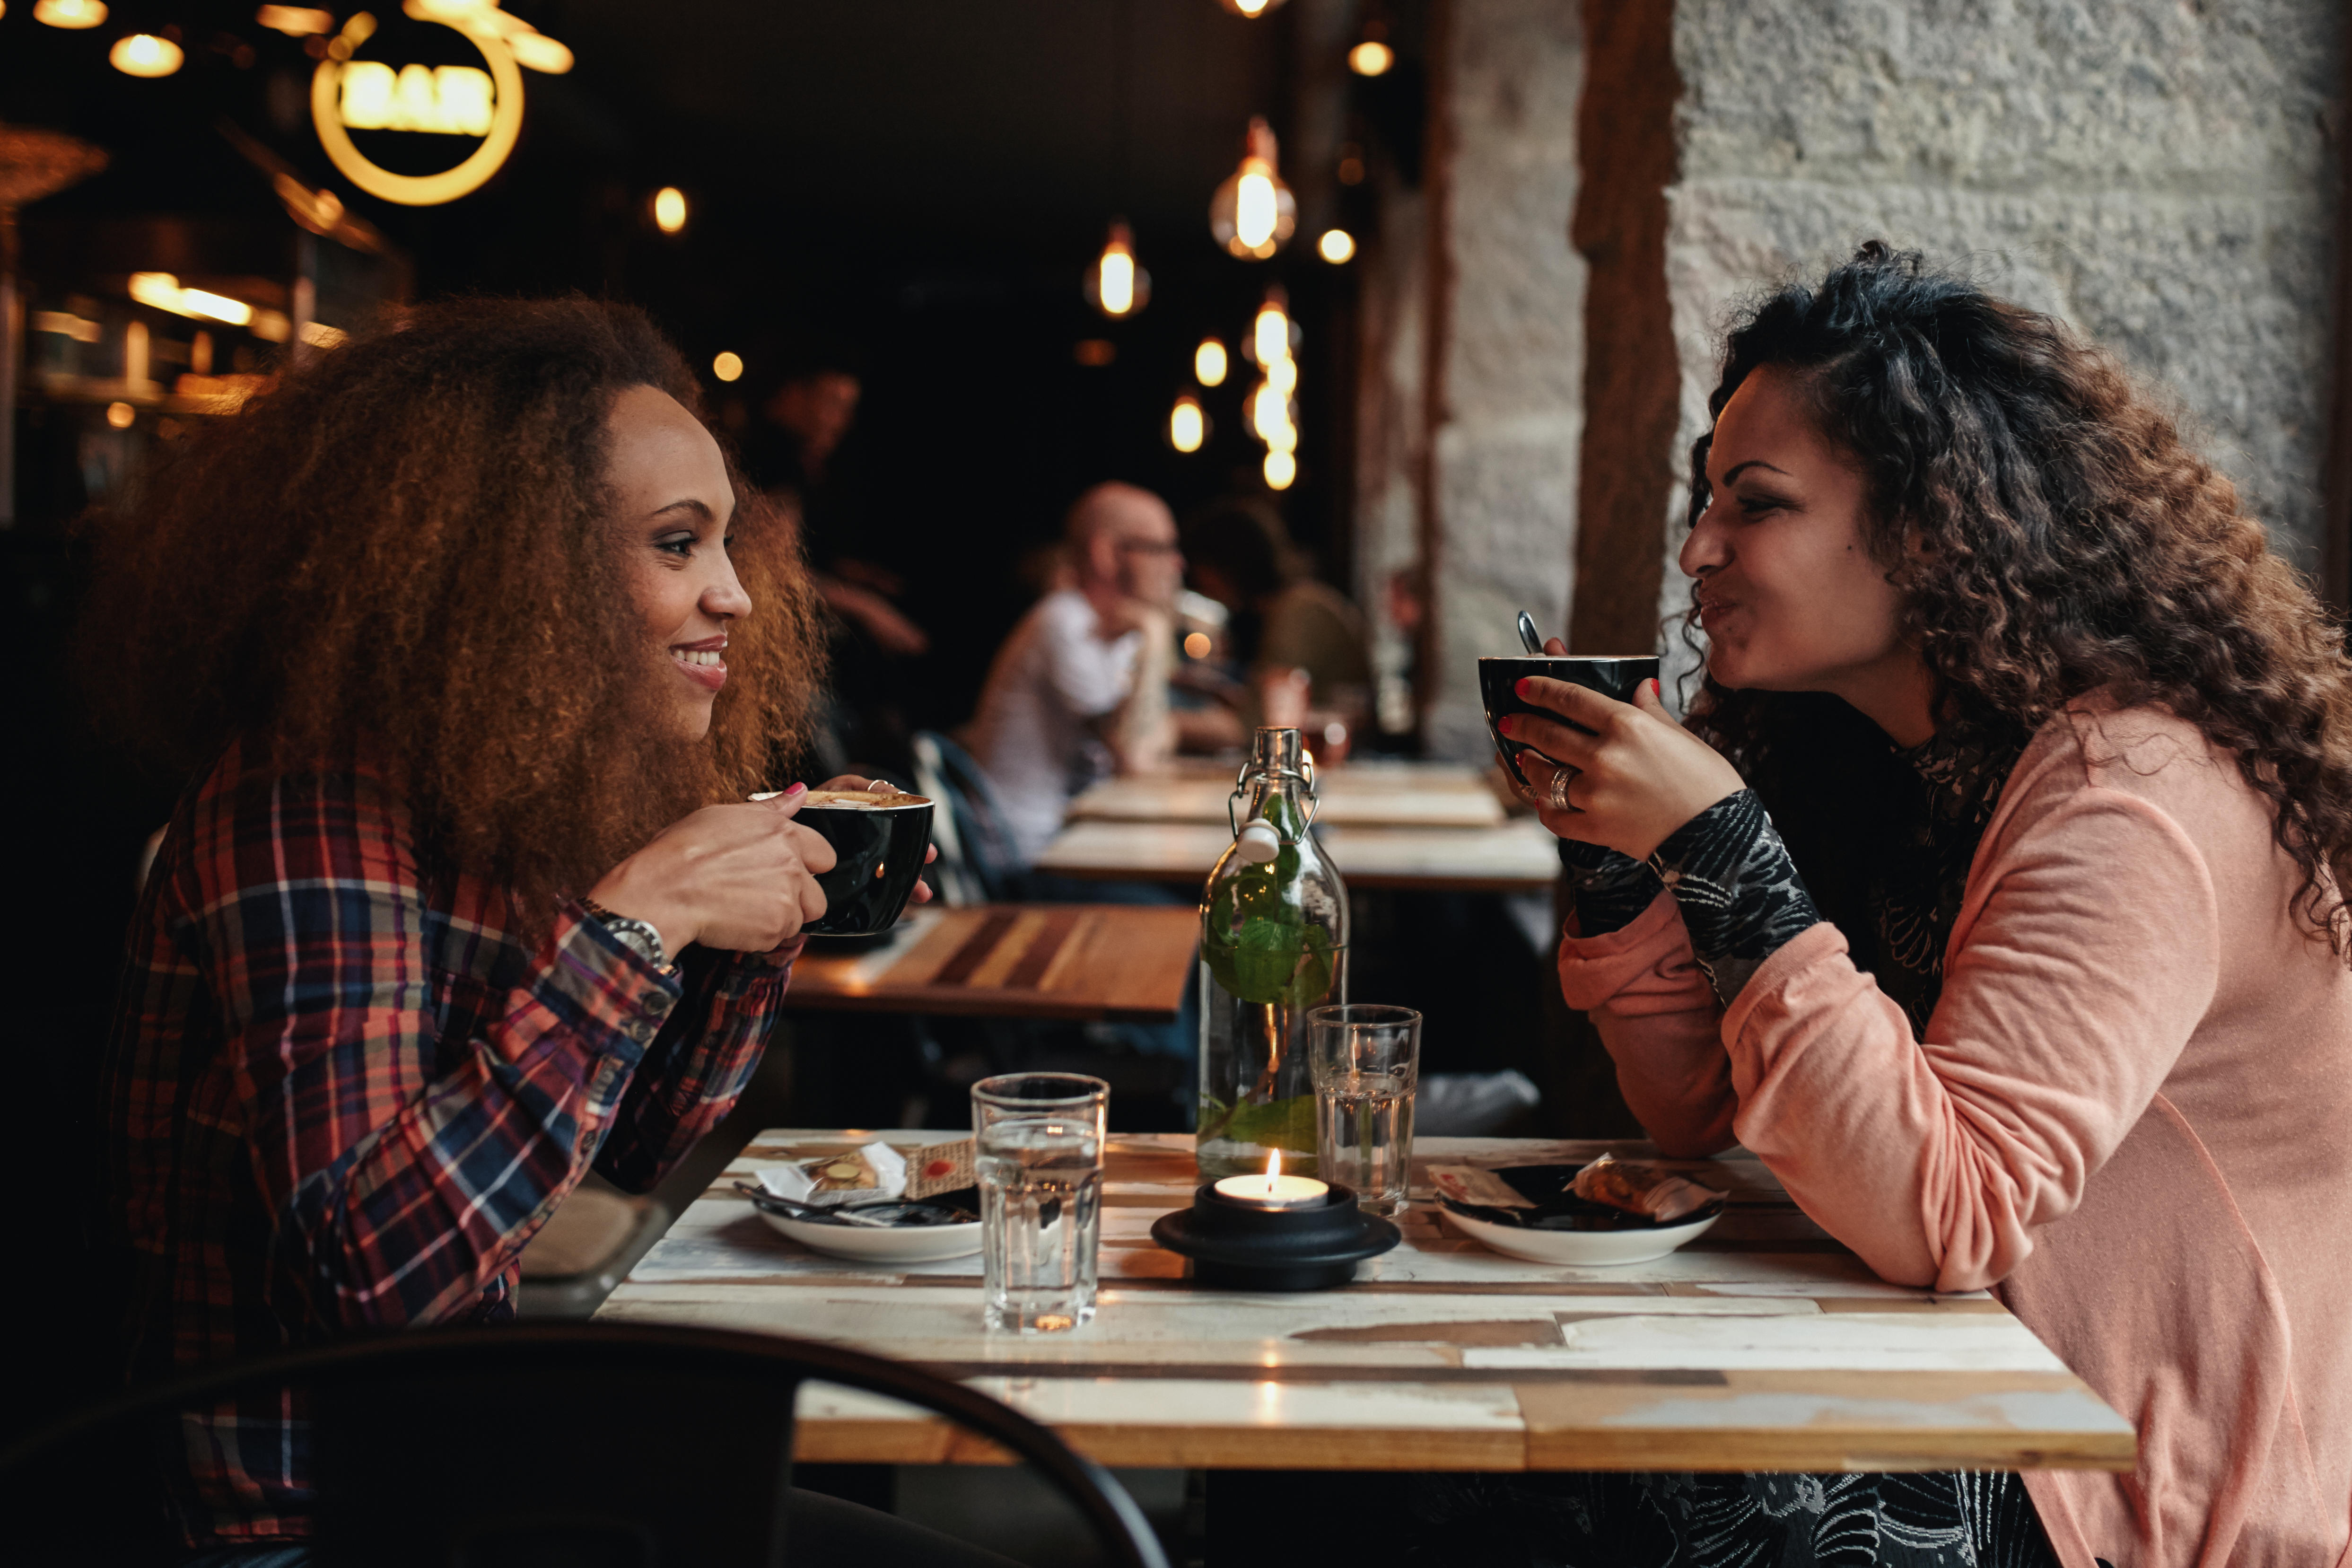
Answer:
<svg viewBox="0 0 2352 1568"><path fill-rule="evenodd" d="M1009 1072L971 1086L988 1328L1061 1333L1094 1316L1110 1084Z"/></svg>

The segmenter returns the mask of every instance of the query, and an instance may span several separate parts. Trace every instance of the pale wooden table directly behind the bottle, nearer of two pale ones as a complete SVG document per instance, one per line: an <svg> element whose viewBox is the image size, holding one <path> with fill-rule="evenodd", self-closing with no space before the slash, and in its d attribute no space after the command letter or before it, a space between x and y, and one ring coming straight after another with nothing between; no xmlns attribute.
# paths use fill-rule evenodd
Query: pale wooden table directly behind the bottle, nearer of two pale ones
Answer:
<svg viewBox="0 0 2352 1568"><path fill-rule="evenodd" d="M1557 839L1536 820L1498 827L1317 825L1338 875L1352 889L1545 893L1559 877ZM1037 870L1105 882L1167 882L1197 889L1232 844L1223 818L1209 823L1105 823L1063 827Z"/></svg>

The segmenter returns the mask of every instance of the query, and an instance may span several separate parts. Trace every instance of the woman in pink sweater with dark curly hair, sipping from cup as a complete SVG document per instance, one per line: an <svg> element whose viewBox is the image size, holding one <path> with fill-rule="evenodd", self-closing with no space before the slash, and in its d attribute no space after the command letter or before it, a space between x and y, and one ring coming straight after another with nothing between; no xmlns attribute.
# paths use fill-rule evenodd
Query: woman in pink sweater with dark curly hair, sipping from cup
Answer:
<svg viewBox="0 0 2352 1568"><path fill-rule="evenodd" d="M1592 1476L1576 1516L1677 1563L2340 1563L2340 628L2107 355L1917 256L1766 299L1710 409L1691 726L1538 679L1559 722L1508 729L1564 764L1562 987L1663 1150L1738 1140L1882 1276L1994 1291L2140 1460Z"/></svg>

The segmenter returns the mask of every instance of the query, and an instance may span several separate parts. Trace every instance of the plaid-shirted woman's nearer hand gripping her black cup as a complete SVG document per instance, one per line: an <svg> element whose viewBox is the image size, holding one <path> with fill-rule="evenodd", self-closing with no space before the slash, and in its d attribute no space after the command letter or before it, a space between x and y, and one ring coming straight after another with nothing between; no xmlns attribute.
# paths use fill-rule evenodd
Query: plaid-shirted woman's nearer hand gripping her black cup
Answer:
<svg viewBox="0 0 2352 1568"><path fill-rule="evenodd" d="M604 872L588 896L654 926L673 959L689 943L771 952L826 912L816 875L833 870L833 846L793 820L807 795L807 785L793 785L769 799L682 816Z"/></svg>

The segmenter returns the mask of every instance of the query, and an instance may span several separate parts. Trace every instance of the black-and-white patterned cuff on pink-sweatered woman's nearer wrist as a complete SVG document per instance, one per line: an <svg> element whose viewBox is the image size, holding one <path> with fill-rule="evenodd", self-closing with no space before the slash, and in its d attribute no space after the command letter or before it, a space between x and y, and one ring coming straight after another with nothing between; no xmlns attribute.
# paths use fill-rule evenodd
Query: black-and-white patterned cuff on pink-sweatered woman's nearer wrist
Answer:
<svg viewBox="0 0 2352 1568"><path fill-rule="evenodd" d="M1677 827L1649 865L1675 893L1691 952L1731 1006L1764 959L1820 922L1755 790L1715 802Z"/></svg>

